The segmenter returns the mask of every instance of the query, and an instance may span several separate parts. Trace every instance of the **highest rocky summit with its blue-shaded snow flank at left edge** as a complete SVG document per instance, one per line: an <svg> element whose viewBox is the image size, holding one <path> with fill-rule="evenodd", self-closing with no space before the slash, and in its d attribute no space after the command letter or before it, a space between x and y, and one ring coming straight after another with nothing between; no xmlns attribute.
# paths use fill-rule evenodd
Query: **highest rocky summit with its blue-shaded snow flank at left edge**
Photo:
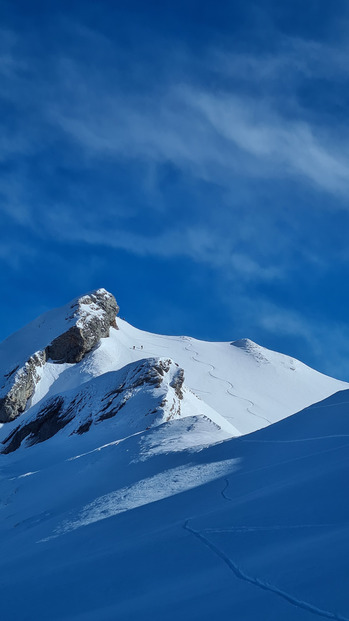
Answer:
<svg viewBox="0 0 349 621"><path fill-rule="evenodd" d="M116 328L114 296L98 289L42 315L0 344L0 422L21 414L48 360L77 363Z"/></svg>

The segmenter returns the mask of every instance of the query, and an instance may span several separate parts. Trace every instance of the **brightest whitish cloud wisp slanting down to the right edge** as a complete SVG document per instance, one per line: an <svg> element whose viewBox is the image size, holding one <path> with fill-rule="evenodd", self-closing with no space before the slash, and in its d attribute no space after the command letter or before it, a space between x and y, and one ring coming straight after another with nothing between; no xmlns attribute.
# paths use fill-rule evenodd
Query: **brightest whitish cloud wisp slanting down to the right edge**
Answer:
<svg viewBox="0 0 349 621"><path fill-rule="evenodd" d="M270 105L252 98L190 93L190 101L232 154L236 147L251 156L243 162L241 174L301 177L335 194L348 191L349 158L344 145L322 137L308 123L283 119Z"/></svg>

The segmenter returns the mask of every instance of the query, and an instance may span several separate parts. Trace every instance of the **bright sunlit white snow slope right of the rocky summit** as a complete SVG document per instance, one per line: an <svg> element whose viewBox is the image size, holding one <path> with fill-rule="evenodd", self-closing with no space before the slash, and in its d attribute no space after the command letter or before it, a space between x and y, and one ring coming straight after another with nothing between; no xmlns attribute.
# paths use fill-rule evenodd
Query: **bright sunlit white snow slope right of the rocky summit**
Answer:
<svg viewBox="0 0 349 621"><path fill-rule="evenodd" d="M184 369L188 388L244 434L348 387L248 339L210 343L143 332L121 319L118 326L78 365L47 363L31 403L130 362L166 356Z"/></svg>

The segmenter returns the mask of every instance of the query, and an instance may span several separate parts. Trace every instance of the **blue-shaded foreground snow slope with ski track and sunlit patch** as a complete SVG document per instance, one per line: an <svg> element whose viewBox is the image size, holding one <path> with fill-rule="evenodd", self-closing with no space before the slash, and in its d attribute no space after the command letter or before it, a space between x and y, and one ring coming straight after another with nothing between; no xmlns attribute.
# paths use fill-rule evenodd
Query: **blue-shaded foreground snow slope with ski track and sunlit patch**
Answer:
<svg viewBox="0 0 349 621"><path fill-rule="evenodd" d="M347 621L348 403L206 448L196 416L1 455L2 618Z"/></svg>

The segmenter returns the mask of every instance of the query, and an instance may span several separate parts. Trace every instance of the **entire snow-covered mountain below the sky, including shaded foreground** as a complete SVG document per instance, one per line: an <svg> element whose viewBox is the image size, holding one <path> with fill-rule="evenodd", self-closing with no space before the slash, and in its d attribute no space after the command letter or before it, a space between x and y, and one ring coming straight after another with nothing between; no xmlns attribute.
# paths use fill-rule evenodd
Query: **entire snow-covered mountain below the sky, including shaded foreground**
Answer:
<svg viewBox="0 0 349 621"><path fill-rule="evenodd" d="M0 345L2 618L349 619L348 384L117 312Z"/></svg>

